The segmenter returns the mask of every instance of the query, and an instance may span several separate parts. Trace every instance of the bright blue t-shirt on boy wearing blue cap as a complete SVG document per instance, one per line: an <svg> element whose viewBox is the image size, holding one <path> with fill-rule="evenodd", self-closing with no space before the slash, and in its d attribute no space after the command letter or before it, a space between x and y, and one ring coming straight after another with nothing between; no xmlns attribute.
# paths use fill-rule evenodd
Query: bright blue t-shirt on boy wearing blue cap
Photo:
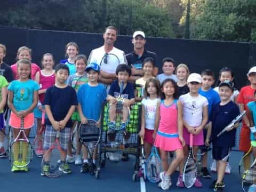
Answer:
<svg viewBox="0 0 256 192"><path fill-rule="evenodd" d="M102 102L106 100L106 95L106 88L102 84L90 86L86 83L79 87L77 100L86 118L99 120Z"/></svg>

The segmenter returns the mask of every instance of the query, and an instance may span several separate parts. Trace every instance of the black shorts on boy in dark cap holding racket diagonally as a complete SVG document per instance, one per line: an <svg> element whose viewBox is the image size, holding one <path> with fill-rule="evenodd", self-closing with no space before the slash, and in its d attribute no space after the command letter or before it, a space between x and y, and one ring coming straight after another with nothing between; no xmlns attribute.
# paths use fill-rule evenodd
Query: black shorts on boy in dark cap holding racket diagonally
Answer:
<svg viewBox="0 0 256 192"><path fill-rule="evenodd" d="M231 147L227 146L213 146L212 157L216 161L226 161L228 162Z"/></svg>

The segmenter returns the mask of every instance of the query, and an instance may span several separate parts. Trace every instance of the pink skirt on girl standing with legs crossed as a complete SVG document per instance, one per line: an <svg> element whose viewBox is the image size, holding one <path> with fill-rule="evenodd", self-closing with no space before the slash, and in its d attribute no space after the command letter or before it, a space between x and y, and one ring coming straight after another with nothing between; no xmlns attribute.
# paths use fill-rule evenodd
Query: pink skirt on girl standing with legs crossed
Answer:
<svg viewBox="0 0 256 192"><path fill-rule="evenodd" d="M165 151L182 149L179 137L164 137L163 135L159 134L159 132L156 134L154 146Z"/></svg>

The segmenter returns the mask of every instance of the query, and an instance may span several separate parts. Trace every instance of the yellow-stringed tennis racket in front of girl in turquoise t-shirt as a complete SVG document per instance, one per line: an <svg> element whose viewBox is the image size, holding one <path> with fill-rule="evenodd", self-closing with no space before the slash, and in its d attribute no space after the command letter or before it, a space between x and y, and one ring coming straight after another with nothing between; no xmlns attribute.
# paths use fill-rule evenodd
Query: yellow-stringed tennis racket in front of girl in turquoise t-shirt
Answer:
<svg viewBox="0 0 256 192"><path fill-rule="evenodd" d="M27 166L33 158L33 149L24 131L24 117L21 117L20 131L11 143L9 158L16 167Z"/></svg>

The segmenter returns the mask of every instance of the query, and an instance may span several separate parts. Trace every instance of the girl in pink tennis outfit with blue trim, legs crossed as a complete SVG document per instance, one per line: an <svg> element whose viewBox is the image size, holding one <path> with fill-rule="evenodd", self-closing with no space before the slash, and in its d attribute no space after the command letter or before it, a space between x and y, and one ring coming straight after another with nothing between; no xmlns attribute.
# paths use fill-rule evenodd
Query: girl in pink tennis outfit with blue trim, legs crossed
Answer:
<svg viewBox="0 0 256 192"><path fill-rule="evenodd" d="M182 108L178 99L178 86L173 79L165 79L162 83L164 99L159 108L159 127L155 138L155 147L159 148L163 164L163 172L160 173L159 187L163 190L171 186L170 175L179 166L184 158L183 147L183 123ZM175 151L175 159L168 165L168 153Z"/></svg>

